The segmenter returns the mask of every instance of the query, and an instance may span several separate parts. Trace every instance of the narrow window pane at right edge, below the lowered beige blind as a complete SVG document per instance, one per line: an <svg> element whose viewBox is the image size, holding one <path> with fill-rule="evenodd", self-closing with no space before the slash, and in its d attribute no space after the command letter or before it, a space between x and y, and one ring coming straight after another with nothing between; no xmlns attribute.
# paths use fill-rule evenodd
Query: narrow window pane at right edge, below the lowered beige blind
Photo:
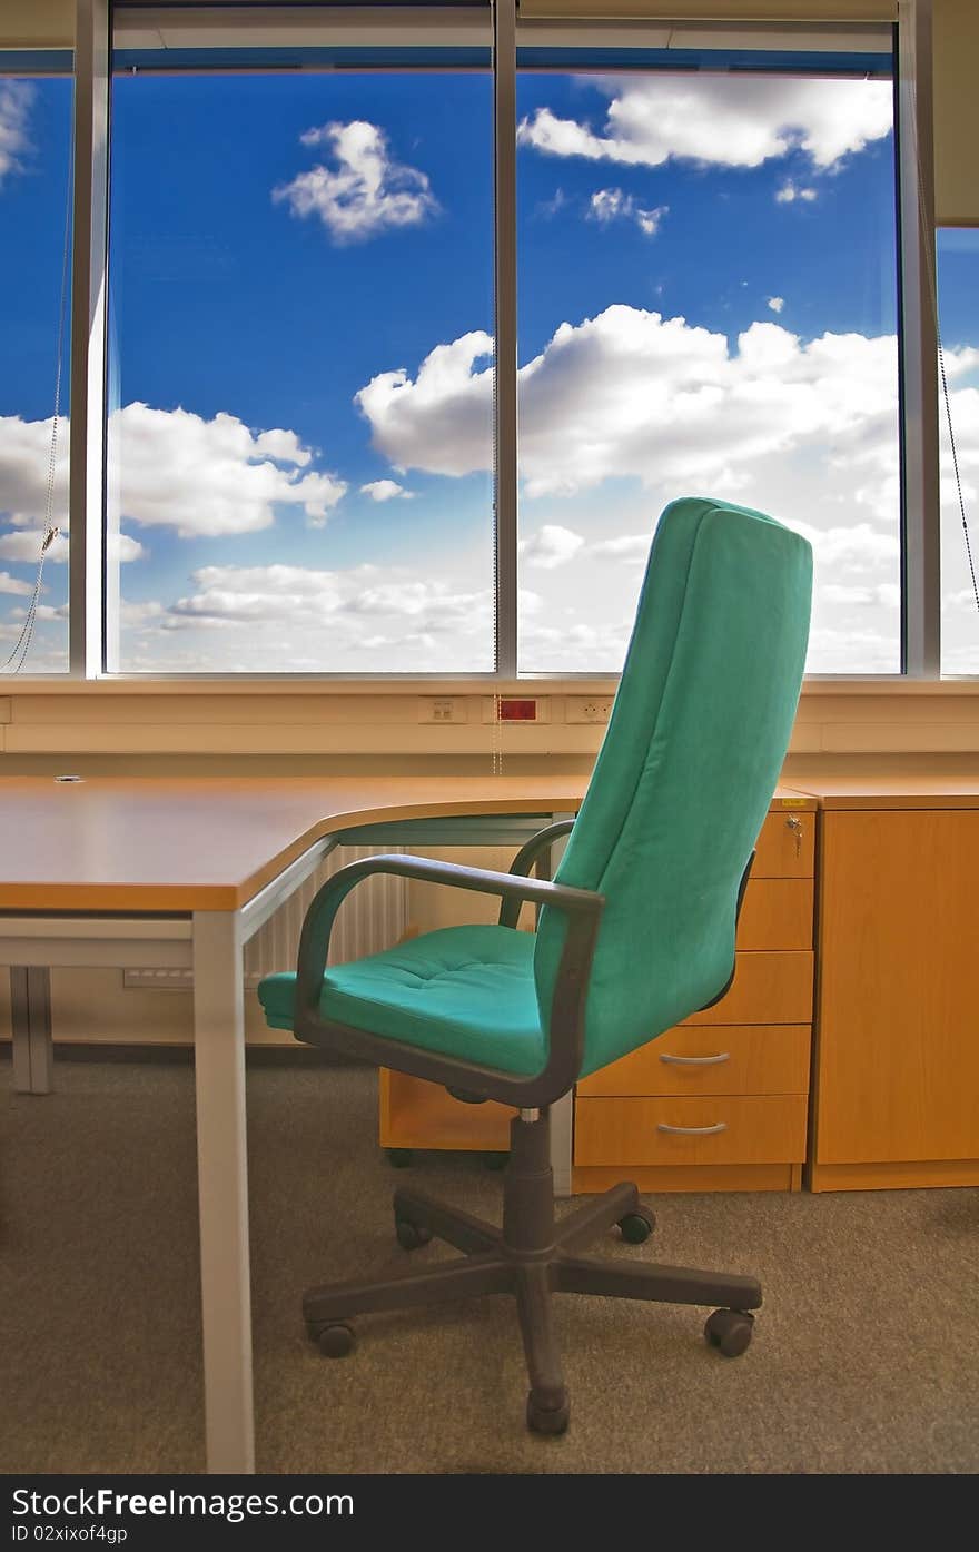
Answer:
<svg viewBox="0 0 979 1552"><path fill-rule="evenodd" d="M979 674L979 230L939 231L942 672Z"/></svg>

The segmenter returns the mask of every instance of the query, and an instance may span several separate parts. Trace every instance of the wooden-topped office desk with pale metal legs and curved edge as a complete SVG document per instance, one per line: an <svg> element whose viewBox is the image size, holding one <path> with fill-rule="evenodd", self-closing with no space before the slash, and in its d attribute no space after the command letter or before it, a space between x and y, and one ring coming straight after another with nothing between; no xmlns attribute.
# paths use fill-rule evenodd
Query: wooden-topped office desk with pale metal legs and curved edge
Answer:
<svg viewBox="0 0 979 1552"><path fill-rule="evenodd" d="M254 1470L244 945L362 826L576 812L571 778L0 781L16 1083L51 1085L53 967L192 967L206 1460Z"/></svg>

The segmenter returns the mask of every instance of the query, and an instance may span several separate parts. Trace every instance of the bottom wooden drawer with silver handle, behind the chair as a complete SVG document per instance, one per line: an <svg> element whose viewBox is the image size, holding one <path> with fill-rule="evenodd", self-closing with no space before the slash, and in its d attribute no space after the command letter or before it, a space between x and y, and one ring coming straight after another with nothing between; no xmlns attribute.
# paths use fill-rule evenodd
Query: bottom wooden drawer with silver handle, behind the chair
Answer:
<svg viewBox="0 0 979 1552"><path fill-rule="evenodd" d="M782 1164L805 1158L805 1094L579 1099L576 1164ZM661 1127L718 1127L709 1133Z"/></svg>

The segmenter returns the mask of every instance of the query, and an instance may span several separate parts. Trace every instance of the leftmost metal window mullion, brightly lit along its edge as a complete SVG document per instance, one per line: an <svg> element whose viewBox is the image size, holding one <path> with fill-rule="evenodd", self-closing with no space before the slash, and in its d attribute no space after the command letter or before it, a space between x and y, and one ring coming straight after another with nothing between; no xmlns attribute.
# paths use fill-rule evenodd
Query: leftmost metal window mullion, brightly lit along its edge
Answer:
<svg viewBox="0 0 979 1552"><path fill-rule="evenodd" d="M68 664L73 677L95 678L102 670L107 0L78 0L74 25Z"/></svg>

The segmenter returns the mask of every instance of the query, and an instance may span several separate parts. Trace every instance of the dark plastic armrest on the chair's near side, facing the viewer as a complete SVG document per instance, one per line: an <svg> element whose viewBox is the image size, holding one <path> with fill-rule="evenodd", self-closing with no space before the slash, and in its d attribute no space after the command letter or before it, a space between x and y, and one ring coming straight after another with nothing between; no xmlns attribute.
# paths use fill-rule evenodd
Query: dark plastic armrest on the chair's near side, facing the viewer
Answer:
<svg viewBox="0 0 979 1552"><path fill-rule="evenodd" d="M462 1088L467 1077L476 1076L484 1080L481 1086L489 1086L489 1097L518 1107L548 1105L566 1093L577 1079L582 1063L585 996L605 896L596 894L593 889L573 889L568 885L551 883L546 878L524 878L509 872L492 872L486 868L465 868L459 863L436 861L428 857L402 855L365 857L362 861L340 868L313 896L303 922L293 1018L293 1029L299 1038L303 1038L299 1034L303 1024L310 1032L326 1034L329 1031L329 1021L320 1013L320 996L332 925L351 889L371 874L394 874L403 878L419 878L424 883L475 889L479 894L498 894L503 899L529 900L534 905L554 906L568 917L548 1020L549 1054L546 1066L540 1072L521 1077L496 1068L462 1063L451 1057L438 1057L433 1052L416 1052L414 1060L402 1066L403 1071L414 1071L416 1076L430 1077L436 1083L455 1083ZM344 1026L334 1024L334 1031L343 1035ZM389 1048L391 1041L383 1037L369 1037L366 1032L346 1031L346 1034L357 1037L360 1052L369 1052L374 1060L385 1065L385 1048ZM317 1041L313 1040L313 1043Z"/></svg>

